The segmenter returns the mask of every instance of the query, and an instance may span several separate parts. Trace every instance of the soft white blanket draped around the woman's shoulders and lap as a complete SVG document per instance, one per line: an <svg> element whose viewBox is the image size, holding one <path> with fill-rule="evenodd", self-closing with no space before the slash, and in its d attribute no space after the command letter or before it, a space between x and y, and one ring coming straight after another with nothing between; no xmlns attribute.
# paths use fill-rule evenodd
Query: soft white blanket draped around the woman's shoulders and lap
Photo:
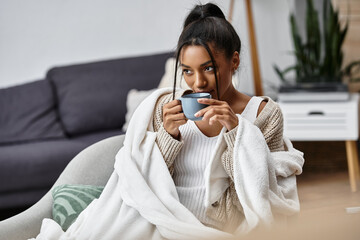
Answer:
<svg viewBox="0 0 360 240"><path fill-rule="evenodd" d="M155 91L135 111L124 146L116 155L115 170L100 198L94 200L66 232L55 221L44 219L36 239L231 237L204 226L179 202L174 182L155 143L152 126L156 101L169 91ZM224 143L223 133L224 130L217 144L219 150ZM289 141L286 144L287 152L270 153L260 130L239 116L234 181L245 220L237 233L268 225L274 221L274 215L287 216L299 211L295 174L301 173L304 160ZM213 156L210 166L207 205L226 181L217 156Z"/></svg>

